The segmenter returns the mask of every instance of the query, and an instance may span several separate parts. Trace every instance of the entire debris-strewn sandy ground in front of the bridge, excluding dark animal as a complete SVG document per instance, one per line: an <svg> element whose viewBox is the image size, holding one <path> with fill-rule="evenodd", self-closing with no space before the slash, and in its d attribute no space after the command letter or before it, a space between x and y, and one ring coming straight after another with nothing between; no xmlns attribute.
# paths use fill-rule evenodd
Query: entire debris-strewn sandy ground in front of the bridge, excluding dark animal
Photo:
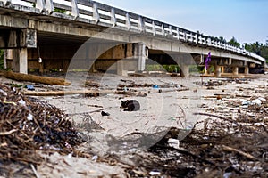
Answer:
<svg viewBox="0 0 268 178"><path fill-rule="evenodd" d="M0 176L268 176L265 75L67 79L63 87L0 78ZM126 100L140 109L123 111Z"/></svg>

